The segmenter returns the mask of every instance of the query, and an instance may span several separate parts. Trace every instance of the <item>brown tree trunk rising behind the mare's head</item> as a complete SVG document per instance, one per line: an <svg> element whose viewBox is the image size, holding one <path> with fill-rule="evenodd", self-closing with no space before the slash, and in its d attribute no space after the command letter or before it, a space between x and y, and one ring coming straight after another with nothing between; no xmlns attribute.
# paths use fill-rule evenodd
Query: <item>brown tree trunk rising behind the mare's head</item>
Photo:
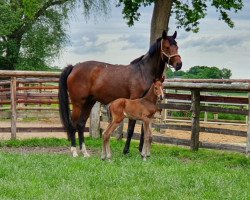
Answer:
<svg viewBox="0 0 250 200"><path fill-rule="evenodd" d="M150 45L162 35L162 31L168 32L169 18L173 0L155 0L151 19Z"/></svg>

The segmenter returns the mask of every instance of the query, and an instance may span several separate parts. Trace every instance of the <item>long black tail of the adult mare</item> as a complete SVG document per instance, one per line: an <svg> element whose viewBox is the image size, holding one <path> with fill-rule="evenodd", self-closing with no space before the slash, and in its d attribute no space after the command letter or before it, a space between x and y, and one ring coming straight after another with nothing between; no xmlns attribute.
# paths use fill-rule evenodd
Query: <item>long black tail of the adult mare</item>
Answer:
<svg viewBox="0 0 250 200"><path fill-rule="evenodd" d="M73 66L68 65L61 73L58 92L60 118L65 131L67 131L68 139L70 139L70 129L72 128L72 122L70 119L67 79L72 69Z"/></svg>

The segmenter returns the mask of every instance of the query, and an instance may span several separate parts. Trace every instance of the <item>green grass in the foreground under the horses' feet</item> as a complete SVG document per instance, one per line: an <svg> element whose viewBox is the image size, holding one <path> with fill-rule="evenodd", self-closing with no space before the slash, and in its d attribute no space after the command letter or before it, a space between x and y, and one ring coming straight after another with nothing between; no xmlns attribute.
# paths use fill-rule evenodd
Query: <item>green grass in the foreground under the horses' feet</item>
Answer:
<svg viewBox="0 0 250 200"><path fill-rule="evenodd" d="M87 138L101 149L101 140ZM1 146L67 146L63 139L2 141ZM250 159L239 153L156 145L143 162L137 142L128 156L111 142L113 159L0 150L0 199L250 199Z"/></svg>

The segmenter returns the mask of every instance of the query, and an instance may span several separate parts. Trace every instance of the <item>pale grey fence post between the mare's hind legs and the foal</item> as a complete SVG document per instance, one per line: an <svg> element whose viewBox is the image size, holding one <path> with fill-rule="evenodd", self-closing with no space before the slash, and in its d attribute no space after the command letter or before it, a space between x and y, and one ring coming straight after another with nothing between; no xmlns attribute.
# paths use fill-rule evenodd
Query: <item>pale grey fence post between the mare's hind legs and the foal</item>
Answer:
<svg viewBox="0 0 250 200"><path fill-rule="evenodd" d="M100 111L101 111L101 104L96 102L93 106L90 114L90 127L89 127L89 134L93 138L100 137Z"/></svg>

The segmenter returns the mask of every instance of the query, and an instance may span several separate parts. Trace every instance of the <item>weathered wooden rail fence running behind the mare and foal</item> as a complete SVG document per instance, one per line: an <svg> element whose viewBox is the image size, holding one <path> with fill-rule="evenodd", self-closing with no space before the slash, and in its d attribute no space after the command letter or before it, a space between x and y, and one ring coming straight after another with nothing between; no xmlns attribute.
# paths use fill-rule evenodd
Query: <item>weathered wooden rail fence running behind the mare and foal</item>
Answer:
<svg viewBox="0 0 250 200"><path fill-rule="evenodd" d="M59 72L28 72L28 71L1 71L0 70L0 113L6 110L11 112L10 128L0 127L0 132L11 132L11 137L16 137L16 132L61 132L62 127L33 127L21 128L16 126L18 113L25 110L49 110L58 114L58 77ZM191 126L176 125L170 123L155 123L157 129L176 129L190 131L190 140L171 137L154 136L154 141L188 145L192 150L199 147L228 149L250 153L250 80L166 80L164 87L167 90L165 97L167 102L159 106L164 110L191 111ZM190 91L176 93L176 91ZM171 92L174 91L174 92ZM208 95L206 92L245 92L246 97ZM210 104L209 106L207 104ZM237 104L241 108L223 108L211 104ZM36 105L36 106L34 106ZM200 127L200 113L231 113L248 116L248 130L235 131L229 129ZM163 112L164 113L164 112ZM166 112L165 112L166 113ZM42 115L43 113L41 113ZM58 115L59 117L59 115ZM93 137L100 136L100 104L96 104L92 110L90 120L90 133ZM165 120L165 119L164 119ZM86 129L88 131L88 128ZM246 138L246 146L228 144L210 144L200 142L200 132L235 135ZM135 138L138 138L135 134ZM211 134L211 137L213 135Z"/></svg>

